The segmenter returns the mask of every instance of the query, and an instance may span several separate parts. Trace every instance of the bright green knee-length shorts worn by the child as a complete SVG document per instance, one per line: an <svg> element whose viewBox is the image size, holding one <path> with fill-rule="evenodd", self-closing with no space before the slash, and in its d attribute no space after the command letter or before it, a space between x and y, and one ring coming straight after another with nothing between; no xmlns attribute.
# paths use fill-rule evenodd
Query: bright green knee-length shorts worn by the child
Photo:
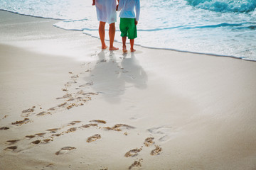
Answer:
<svg viewBox="0 0 256 170"><path fill-rule="evenodd" d="M137 38L137 26L135 25L135 18L120 18L121 37L129 39Z"/></svg>

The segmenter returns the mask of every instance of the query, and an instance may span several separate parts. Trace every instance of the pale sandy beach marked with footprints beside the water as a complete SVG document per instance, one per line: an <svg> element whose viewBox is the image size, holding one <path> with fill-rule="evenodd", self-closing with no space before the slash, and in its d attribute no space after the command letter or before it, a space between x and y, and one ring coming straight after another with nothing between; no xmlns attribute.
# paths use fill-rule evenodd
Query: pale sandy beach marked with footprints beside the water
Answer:
<svg viewBox="0 0 256 170"><path fill-rule="evenodd" d="M256 169L256 62L57 22L0 11L0 169Z"/></svg>

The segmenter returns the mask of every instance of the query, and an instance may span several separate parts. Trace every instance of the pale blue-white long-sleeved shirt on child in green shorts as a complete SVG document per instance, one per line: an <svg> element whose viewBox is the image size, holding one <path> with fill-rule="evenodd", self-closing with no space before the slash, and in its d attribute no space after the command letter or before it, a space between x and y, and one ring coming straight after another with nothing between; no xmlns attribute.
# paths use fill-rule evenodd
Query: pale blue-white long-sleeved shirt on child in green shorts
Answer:
<svg viewBox="0 0 256 170"><path fill-rule="evenodd" d="M136 15L134 13L134 7ZM139 0L119 0L118 10L120 18L136 18L139 21L140 3Z"/></svg>

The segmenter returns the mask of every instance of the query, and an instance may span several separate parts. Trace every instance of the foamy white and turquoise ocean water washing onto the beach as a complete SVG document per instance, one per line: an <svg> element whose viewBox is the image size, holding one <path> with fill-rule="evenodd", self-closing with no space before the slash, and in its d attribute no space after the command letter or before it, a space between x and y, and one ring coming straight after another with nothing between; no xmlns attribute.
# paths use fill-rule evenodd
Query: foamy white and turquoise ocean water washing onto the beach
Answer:
<svg viewBox="0 0 256 170"><path fill-rule="evenodd" d="M91 4L91 0L0 0L0 9L60 19L54 26L99 37ZM119 18L116 28L116 40L121 42ZM135 44L144 47L256 61L256 0L141 0L137 30Z"/></svg>

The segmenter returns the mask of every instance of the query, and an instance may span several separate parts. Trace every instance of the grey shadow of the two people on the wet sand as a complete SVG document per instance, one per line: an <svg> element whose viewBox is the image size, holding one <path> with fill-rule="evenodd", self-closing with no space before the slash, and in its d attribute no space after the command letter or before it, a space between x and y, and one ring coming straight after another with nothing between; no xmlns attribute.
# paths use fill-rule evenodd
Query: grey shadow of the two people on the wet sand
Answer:
<svg viewBox="0 0 256 170"><path fill-rule="evenodd" d="M92 89L103 94L105 100L119 103L127 87L146 89L147 76L134 52L117 57L114 52L102 50L87 81L92 81ZM99 78L100 77L100 78Z"/></svg>

